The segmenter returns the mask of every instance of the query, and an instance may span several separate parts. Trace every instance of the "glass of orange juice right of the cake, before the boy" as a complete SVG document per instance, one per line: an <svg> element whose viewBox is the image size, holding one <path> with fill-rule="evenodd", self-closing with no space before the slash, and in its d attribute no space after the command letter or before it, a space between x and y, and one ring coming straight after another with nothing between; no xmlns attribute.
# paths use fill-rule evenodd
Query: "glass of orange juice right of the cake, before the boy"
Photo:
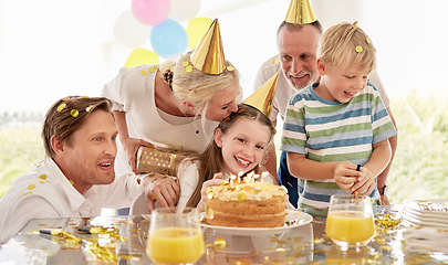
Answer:
<svg viewBox="0 0 448 265"><path fill-rule="evenodd" d="M325 232L342 250L366 245L375 235L374 214L369 197L332 195Z"/></svg>

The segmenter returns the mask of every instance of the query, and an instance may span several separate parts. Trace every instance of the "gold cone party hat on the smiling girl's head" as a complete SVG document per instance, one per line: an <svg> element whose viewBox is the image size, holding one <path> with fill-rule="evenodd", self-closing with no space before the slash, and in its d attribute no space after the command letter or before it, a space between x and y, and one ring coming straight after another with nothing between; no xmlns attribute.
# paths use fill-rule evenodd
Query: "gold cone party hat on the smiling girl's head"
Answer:
<svg viewBox="0 0 448 265"><path fill-rule="evenodd" d="M242 103L258 108L268 117L271 116L272 103L275 95L278 80L279 73L274 74L269 81L267 81L262 86L260 86L260 88L258 88Z"/></svg>

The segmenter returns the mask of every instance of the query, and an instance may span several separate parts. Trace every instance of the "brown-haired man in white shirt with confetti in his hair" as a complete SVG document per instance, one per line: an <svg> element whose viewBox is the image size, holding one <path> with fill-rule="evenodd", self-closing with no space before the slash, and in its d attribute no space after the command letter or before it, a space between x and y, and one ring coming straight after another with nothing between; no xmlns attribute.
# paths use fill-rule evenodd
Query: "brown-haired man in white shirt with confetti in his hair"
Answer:
<svg viewBox="0 0 448 265"><path fill-rule="evenodd" d="M0 242L32 219L101 214L103 206L129 206L145 192L146 176L115 178L117 129L104 97L65 97L46 113L42 129L46 158L14 180L0 200ZM148 178L146 178L148 179Z"/></svg>

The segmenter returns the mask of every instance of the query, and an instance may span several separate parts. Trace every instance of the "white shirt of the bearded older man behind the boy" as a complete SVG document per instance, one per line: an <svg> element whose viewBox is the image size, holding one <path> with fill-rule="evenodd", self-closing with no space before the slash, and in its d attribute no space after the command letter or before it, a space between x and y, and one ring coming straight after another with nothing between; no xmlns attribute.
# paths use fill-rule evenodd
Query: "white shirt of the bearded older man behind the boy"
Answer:
<svg viewBox="0 0 448 265"><path fill-rule="evenodd" d="M284 120L284 113L286 110L288 102L290 100L291 96L298 92L293 86L290 85L288 80L284 77L283 72L281 70L279 55L275 55L263 63L260 70L257 73L256 82L253 84L253 91L257 91L261 85L263 85L269 78L271 78L274 74L279 74L279 80L277 82L277 91L275 96L272 104L272 113L270 119L277 120L277 115L280 115L282 120ZM384 91L383 84L378 77L376 71L372 72L368 75L369 81L375 87L378 89L379 95L382 96L384 106L386 108L389 106L389 98Z"/></svg>

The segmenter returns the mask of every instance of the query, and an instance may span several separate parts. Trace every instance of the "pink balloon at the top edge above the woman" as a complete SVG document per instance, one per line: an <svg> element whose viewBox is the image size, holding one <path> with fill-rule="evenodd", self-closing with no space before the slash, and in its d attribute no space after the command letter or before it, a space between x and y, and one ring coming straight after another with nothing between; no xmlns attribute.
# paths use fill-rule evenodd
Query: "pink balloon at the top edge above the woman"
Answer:
<svg viewBox="0 0 448 265"><path fill-rule="evenodd" d="M157 25L168 18L170 7L169 0L133 0L131 10L140 23Z"/></svg>

